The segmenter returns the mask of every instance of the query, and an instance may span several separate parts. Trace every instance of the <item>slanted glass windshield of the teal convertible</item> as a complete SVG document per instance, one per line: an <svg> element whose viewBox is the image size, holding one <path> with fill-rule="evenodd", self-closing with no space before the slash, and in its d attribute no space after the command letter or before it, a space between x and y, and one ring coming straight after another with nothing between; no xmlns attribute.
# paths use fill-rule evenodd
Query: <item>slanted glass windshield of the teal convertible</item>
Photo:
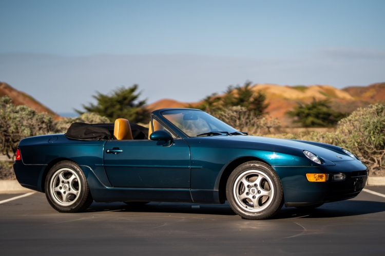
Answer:
<svg viewBox="0 0 385 256"><path fill-rule="evenodd" d="M198 110L166 110L162 115L189 137L237 133L232 126Z"/></svg>

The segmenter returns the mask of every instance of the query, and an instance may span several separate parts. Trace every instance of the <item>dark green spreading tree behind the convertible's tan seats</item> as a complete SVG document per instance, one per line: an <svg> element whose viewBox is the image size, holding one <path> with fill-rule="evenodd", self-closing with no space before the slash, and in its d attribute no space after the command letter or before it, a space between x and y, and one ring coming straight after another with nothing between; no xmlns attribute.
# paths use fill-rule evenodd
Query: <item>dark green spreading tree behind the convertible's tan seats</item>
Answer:
<svg viewBox="0 0 385 256"><path fill-rule="evenodd" d="M144 107L146 99L138 101L140 92L136 93L138 84L134 84L129 88L124 86L113 90L110 94L102 94L97 92L97 95L92 95L97 100L97 104L90 103L82 105L86 112L97 113L107 117L111 122L117 118L126 118L130 122L147 122L149 112ZM75 110L79 114L84 112Z"/></svg>

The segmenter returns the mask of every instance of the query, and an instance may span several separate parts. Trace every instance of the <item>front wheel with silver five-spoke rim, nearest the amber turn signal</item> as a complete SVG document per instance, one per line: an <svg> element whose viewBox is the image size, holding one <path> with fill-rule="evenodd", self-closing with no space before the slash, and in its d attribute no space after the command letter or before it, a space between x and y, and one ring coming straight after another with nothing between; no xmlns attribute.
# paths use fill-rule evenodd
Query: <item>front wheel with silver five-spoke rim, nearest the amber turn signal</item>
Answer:
<svg viewBox="0 0 385 256"><path fill-rule="evenodd" d="M248 220L270 218L283 205L278 175L271 166L259 161L246 162L235 168L227 180L226 197L236 214Z"/></svg>

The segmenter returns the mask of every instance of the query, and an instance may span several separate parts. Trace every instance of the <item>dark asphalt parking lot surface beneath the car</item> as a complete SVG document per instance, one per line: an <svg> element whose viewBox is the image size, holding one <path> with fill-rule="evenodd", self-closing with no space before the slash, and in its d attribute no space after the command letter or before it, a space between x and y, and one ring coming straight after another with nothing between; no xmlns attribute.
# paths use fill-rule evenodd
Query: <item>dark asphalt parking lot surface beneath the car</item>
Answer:
<svg viewBox="0 0 385 256"><path fill-rule="evenodd" d="M385 255L385 198L365 191L311 211L283 207L261 221L241 219L228 204L191 206L93 203L61 214L35 193L0 204L0 255Z"/></svg>

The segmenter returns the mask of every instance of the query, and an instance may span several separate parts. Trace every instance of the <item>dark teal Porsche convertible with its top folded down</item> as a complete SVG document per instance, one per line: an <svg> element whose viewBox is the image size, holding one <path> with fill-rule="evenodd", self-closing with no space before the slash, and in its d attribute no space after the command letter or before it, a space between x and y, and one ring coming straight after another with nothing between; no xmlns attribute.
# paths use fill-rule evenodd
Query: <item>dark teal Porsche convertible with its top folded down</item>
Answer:
<svg viewBox="0 0 385 256"><path fill-rule="evenodd" d="M356 197L369 171L344 148L247 135L195 109L160 109L149 128L73 123L25 138L14 171L60 212L95 202L223 204L244 219Z"/></svg>

